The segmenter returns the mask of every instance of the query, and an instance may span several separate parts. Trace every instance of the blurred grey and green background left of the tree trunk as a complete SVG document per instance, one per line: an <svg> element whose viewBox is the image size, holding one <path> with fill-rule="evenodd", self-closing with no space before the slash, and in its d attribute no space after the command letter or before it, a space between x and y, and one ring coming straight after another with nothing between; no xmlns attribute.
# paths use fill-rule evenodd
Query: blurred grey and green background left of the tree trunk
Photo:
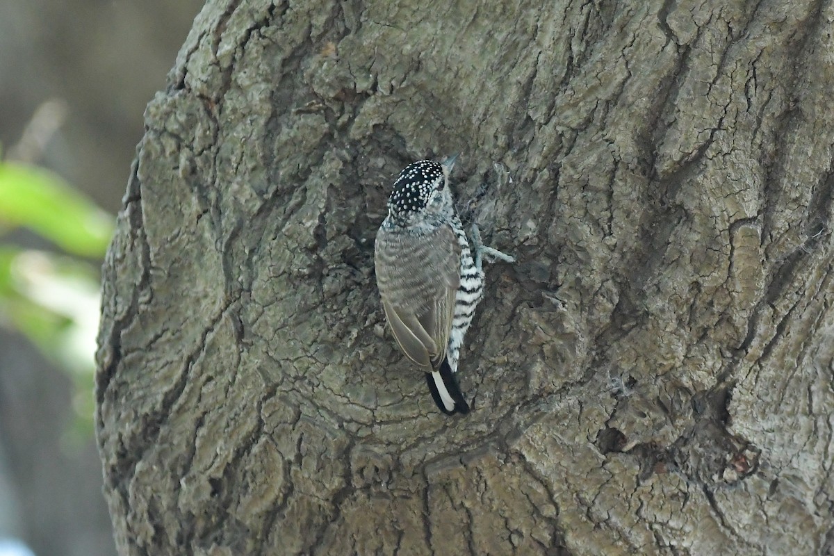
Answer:
<svg viewBox="0 0 834 556"><path fill-rule="evenodd" d="M0 556L115 554L93 438L98 269L144 107L202 4L0 1Z"/></svg>

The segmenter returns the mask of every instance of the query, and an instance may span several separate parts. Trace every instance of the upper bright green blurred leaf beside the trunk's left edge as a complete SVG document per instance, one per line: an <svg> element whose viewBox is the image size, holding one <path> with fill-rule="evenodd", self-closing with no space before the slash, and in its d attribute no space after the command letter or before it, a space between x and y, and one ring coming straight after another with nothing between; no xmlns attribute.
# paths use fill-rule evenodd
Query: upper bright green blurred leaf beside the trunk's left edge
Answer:
<svg viewBox="0 0 834 556"><path fill-rule="evenodd" d="M57 174L21 163L0 163L0 225L22 226L68 253L101 257L114 219Z"/></svg>

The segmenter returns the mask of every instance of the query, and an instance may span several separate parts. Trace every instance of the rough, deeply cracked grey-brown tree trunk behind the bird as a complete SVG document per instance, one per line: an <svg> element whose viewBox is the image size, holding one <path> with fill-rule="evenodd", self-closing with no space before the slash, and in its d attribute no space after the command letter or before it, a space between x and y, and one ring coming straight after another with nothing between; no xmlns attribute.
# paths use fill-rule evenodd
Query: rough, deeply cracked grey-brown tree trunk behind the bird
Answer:
<svg viewBox="0 0 834 556"><path fill-rule="evenodd" d="M209 2L105 265L121 553L830 551L834 6L713 4ZM372 259L455 152L520 262L450 419Z"/></svg>

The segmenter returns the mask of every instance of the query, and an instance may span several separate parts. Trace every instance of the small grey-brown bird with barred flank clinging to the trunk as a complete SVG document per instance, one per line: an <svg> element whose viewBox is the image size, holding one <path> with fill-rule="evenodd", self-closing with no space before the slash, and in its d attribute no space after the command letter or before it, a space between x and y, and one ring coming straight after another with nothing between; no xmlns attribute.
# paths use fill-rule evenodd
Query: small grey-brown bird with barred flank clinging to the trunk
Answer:
<svg viewBox="0 0 834 556"><path fill-rule="evenodd" d="M484 295L483 256L515 258L480 243L473 248L449 187L457 155L419 160L394 180L388 215L374 243L374 271L385 319L399 348L425 373L440 411L470 412L455 379L460 348Z"/></svg>

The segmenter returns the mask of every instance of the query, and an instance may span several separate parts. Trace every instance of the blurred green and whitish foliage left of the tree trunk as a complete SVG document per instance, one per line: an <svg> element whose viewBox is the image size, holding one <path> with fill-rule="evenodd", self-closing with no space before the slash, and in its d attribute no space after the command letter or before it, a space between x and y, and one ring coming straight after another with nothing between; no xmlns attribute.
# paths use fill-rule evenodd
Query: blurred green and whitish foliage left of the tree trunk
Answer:
<svg viewBox="0 0 834 556"><path fill-rule="evenodd" d="M0 160L0 324L72 375L72 432L84 437L93 431L98 265L113 224L57 174ZM20 228L35 237L12 234Z"/></svg>

